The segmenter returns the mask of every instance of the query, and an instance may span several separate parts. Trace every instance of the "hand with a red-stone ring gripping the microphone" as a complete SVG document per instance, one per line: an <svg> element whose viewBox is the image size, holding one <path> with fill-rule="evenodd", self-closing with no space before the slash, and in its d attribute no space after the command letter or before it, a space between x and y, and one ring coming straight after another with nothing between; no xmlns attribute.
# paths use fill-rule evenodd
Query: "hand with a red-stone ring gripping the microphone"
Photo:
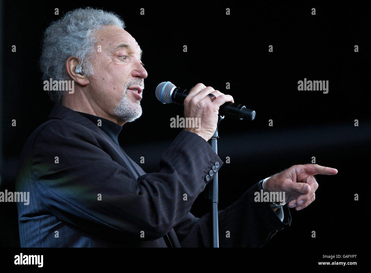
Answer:
<svg viewBox="0 0 371 273"><path fill-rule="evenodd" d="M211 101L208 94L215 95L216 99ZM223 94L211 86L206 87L204 84L197 84L184 100L184 117L201 118L201 121L198 128L191 127L184 130L198 134L208 141L217 127L219 107L227 101L234 103L231 95Z"/></svg>

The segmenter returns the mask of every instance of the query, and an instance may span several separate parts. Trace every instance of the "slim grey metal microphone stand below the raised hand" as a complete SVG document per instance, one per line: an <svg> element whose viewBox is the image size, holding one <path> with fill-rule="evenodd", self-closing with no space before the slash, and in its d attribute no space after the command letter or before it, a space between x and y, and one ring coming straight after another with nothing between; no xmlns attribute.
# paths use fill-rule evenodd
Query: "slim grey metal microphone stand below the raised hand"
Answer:
<svg viewBox="0 0 371 273"><path fill-rule="evenodd" d="M218 123L214 135L209 139L209 144L218 154L218 125L224 116L218 117ZM209 183L208 198L210 201L211 241L210 246L219 247L219 220L218 220L218 172L214 173L214 179Z"/></svg>

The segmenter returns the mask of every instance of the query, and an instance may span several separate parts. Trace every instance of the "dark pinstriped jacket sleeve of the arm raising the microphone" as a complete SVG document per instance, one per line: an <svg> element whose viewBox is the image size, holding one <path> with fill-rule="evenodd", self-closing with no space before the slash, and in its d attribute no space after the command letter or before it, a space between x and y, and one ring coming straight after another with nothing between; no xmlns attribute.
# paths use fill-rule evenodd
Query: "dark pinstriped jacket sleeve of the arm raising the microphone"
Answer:
<svg viewBox="0 0 371 273"><path fill-rule="evenodd" d="M134 180L91 130L66 120L42 127L30 156L39 200L51 214L88 233L125 241L156 240L184 219L215 161L223 164L204 139L181 131L162 155L160 172Z"/></svg>

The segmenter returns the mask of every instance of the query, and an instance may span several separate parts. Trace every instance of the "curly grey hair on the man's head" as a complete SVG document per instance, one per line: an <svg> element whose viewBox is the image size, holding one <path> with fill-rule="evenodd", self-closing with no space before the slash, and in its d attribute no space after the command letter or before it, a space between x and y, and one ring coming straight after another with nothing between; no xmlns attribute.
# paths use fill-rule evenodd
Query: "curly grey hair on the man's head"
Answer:
<svg viewBox="0 0 371 273"><path fill-rule="evenodd" d="M83 62L85 75L93 75L91 60L94 44L98 42L95 32L104 25L125 28L125 22L114 12L87 7L67 12L61 19L54 21L45 30L40 70L43 80L68 80L65 68L66 59L75 56ZM48 91L51 101L60 104L64 91Z"/></svg>

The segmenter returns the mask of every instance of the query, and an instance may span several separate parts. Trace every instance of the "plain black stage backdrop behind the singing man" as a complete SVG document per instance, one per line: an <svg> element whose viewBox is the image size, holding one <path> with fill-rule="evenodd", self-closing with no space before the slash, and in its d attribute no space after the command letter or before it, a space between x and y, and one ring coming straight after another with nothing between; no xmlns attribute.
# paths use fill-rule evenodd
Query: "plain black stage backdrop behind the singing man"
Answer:
<svg viewBox="0 0 371 273"><path fill-rule="evenodd" d="M202 82L256 111L254 121L220 123L219 155L230 163L219 172L219 209L260 179L315 157L338 174L316 176L315 202L302 211L291 209L291 227L264 247L295 255L295 242L324 254L328 247L350 251L362 245L370 215L370 16L369 6L354 1L4 2L0 191L14 191L23 144L53 105L37 66L43 31L65 12L86 6L122 16L143 50L148 72L143 114L123 126L119 142L137 163L144 156L144 170L158 171L161 154L181 130L170 127L170 118L183 115L181 106L157 101L155 87L171 81L187 89ZM327 94L299 91L304 79L328 81ZM203 196L191 212L198 217L208 212ZM0 222L0 245L18 247L15 203L0 204Z"/></svg>

